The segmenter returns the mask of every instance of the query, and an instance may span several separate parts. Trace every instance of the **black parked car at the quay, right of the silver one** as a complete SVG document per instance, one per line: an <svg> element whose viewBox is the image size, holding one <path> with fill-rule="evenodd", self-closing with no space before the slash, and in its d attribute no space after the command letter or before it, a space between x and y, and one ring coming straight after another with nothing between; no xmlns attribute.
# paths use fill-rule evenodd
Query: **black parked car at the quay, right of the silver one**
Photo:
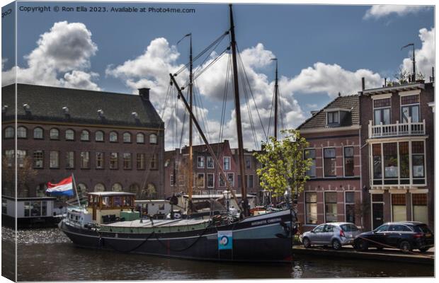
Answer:
<svg viewBox="0 0 439 283"><path fill-rule="evenodd" d="M404 252L418 249L424 253L433 246L433 233L426 224L416 221L385 223L373 231L360 233L354 241L357 250L399 248Z"/></svg>

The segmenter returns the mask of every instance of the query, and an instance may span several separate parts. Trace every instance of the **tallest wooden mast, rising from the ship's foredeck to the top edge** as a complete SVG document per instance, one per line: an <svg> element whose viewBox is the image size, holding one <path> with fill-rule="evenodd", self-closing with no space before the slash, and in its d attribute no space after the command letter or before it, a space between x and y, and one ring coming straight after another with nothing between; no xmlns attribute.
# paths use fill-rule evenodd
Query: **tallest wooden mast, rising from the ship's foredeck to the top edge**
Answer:
<svg viewBox="0 0 439 283"><path fill-rule="evenodd" d="M236 130L238 132L238 156L239 156L239 172L241 173L241 196L244 216L249 216L249 205L247 200L246 190L246 171L244 167L244 144L242 141L242 125L241 125L241 103L239 103L239 84L238 84L238 67L236 64L236 40L233 22L232 4L229 4L230 10L230 45L232 45L232 62L233 62L233 81L234 81L234 100L235 100L235 115L236 115Z"/></svg>

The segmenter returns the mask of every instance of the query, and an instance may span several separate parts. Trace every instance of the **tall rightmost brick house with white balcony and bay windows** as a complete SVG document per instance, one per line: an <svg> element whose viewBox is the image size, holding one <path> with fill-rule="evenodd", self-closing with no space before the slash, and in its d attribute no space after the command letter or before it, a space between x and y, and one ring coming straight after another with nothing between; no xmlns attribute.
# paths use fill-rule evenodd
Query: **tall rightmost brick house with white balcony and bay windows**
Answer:
<svg viewBox="0 0 439 283"><path fill-rule="evenodd" d="M361 93L365 226L414 220L434 228L434 83Z"/></svg>

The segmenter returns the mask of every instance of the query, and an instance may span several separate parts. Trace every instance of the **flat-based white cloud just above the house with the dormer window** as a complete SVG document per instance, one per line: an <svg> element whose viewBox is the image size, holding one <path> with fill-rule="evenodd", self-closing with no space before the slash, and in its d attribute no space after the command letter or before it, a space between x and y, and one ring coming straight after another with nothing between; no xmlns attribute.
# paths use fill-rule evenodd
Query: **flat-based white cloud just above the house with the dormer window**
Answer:
<svg viewBox="0 0 439 283"><path fill-rule="evenodd" d="M337 64L324 64L317 62L313 67L302 69L298 76L285 81L289 91L301 93L328 93L331 98L342 95L358 93L361 90L361 78L365 78L366 88L382 85L381 76L367 69L348 71Z"/></svg>

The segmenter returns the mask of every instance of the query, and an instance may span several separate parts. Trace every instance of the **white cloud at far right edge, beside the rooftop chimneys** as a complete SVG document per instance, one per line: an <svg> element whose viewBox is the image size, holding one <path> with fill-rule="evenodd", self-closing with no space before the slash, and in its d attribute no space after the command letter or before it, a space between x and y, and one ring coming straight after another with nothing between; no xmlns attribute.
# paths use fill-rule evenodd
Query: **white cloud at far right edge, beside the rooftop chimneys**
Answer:
<svg viewBox="0 0 439 283"><path fill-rule="evenodd" d="M431 28L431 30L421 28L419 38L421 38L422 47L415 50L416 73L421 71L424 79L428 79L429 76L432 76L431 67L435 65L435 28ZM412 51L409 52L409 58L405 58L401 64L401 68L409 71L410 74L413 71L411 54Z"/></svg>

